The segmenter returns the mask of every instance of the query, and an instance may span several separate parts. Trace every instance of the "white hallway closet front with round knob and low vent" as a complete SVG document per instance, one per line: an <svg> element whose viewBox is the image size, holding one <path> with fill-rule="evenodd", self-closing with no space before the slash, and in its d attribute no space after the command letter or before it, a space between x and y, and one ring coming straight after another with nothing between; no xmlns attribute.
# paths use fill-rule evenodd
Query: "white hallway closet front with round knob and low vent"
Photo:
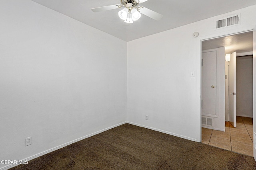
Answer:
<svg viewBox="0 0 256 170"><path fill-rule="evenodd" d="M225 131L225 48L202 51L202 127Z"/></svg>

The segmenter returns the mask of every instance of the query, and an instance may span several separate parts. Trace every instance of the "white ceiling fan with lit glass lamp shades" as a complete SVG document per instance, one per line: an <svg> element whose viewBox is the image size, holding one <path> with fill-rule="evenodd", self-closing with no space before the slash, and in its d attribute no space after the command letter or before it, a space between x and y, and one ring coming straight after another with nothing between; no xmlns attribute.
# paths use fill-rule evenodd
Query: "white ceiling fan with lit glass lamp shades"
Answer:
<svg viewBox="0 0 256 170"><path fill-rule="evenodd" d="M145 8L144 6L139 6L139 4L146 1L148 0L121 0L121 4L92 8L92 11L101 12L124 7L123 10L118 12L118 16L126 23L133 23L133 21L140 18L141 14L144 14L154 20L160 20L163 15Z"/></svg>

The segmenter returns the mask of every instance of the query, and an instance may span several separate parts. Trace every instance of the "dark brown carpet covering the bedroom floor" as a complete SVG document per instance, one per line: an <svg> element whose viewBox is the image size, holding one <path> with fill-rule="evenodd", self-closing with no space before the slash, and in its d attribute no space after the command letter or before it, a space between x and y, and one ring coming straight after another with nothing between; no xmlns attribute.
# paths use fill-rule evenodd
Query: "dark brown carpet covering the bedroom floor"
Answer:
<svg viewBox="0 0 256 170"><path fill-rule="evenodd" d="M237 154L124 124L11 170L256 170Z"/></svg>

